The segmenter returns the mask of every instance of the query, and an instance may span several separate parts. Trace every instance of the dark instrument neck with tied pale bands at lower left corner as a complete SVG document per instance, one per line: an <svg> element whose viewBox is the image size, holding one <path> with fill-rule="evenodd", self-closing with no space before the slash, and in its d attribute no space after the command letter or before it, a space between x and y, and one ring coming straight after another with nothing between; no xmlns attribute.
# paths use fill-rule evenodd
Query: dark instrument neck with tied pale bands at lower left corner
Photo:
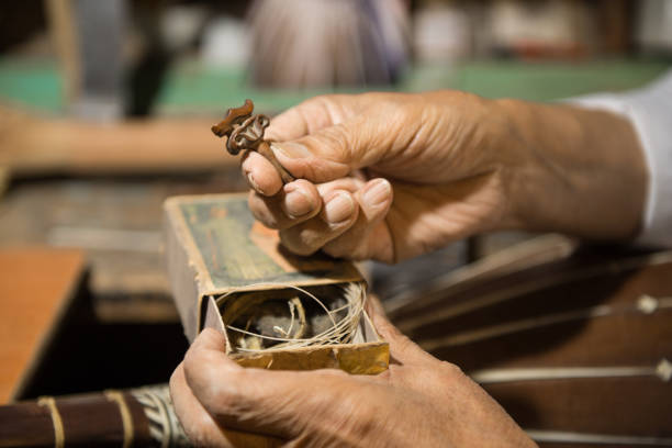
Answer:
<svg viewBox="0 0 672 448"><path fill-rule="evenodd" d="M188 447L168 387L0 406L0 447Z"/></svg>

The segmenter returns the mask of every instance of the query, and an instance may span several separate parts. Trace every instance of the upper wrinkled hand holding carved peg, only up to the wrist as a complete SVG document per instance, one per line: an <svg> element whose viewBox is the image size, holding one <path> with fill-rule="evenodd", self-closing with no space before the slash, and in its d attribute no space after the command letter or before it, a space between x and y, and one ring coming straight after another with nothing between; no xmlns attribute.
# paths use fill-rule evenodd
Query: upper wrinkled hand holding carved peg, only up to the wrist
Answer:
<svg viewBox="0 0 672 448"><path fill-rule="evenodd" d="M367 93L309 100L267 137L296 178L246 154L250 209L307 255L393 262L503 223L508 206L486 100L457 92Z"/></svg>

